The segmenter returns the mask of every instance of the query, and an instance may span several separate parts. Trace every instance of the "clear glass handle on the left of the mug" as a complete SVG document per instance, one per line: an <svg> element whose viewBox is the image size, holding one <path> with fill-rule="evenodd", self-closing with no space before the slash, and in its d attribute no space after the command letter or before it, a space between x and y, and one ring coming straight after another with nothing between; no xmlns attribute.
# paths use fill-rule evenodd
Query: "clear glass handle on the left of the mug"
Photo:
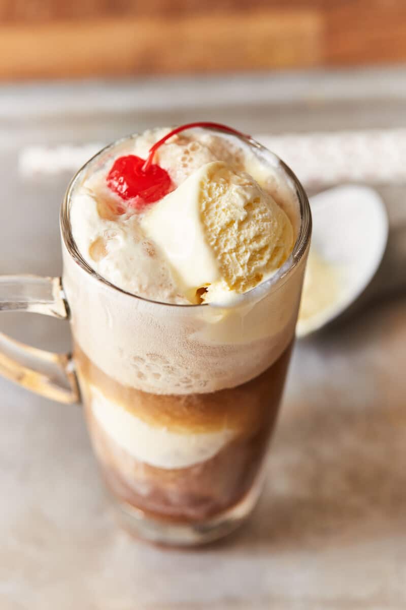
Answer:
<svg viewBox="0 0 406 610"><path fill-rule="evenodd" d="M28 311L68 318L60 278L0 276L0 311ZM24 345L0 333L0 375L61 403L77 403L79 387L71 354Z"/></svg>

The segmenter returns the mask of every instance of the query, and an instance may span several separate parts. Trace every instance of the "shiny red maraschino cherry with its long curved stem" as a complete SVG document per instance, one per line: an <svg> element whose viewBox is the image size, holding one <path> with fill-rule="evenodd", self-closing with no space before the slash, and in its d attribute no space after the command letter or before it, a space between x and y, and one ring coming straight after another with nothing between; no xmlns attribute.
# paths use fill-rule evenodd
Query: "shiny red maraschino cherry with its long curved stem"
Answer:
<svg viewBox="0 0 406 610"><path fill-rule="evenodd" d="M141 159L141 157L137 157L134 154L116 159L107 176L108 187L122 199L128 201L130 207L136 207L137 209L142 209L142 207L162 199L173 187L167 171L153 163L155 152L159 146L162 146L173 135L193 127L220 129L229 134L247 137L240 131L236 131L236 129L221 123L197 122L181 125L176 127L176 129L172 129L158 142L155 142L149 149L147 159Z"/></svg>

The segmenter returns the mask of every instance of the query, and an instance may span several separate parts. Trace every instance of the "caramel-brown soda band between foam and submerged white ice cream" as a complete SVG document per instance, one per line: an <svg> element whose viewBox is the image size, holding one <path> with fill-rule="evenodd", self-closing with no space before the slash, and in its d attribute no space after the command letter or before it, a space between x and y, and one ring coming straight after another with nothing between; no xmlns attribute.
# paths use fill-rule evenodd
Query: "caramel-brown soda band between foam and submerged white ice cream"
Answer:
<svg viewBox="0 0 406 610"><path fill-rule="evenodd" d="M267 424L279 404L291 346L264 373L241 386L201 394L153 394L124 386L89 360L77 343L74 357L82 392L96 386L114 401L151 426L172 432L211 432L231 428L249 436Z"/></svg>

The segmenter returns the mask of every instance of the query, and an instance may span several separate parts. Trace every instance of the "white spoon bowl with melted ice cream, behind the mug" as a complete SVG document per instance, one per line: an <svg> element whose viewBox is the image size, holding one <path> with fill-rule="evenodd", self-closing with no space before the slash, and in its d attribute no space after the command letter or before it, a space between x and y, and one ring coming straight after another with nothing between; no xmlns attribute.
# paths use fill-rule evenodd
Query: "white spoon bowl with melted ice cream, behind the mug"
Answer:
<svg viewBox="0 0 406 610"><path fill-rule="evenodd" d="M330 188L310 199L313 237L296 335L305 337L338 318L363 293L388 240L385 204L362 185Z"/></svg>

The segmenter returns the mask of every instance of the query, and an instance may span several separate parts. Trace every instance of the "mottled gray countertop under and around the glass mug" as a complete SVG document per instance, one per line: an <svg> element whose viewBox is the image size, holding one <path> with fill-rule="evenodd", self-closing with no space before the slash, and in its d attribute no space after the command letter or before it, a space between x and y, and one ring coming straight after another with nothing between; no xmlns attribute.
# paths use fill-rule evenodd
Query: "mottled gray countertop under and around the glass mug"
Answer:
<svg viewBox="0 0 406 610"><path fill-rule="evenodd" d="M296 81L295 75L270 77L259 101L251 95L251 101L231 104L228 123L250 129L255 116L258 132L262 116L263 132L289 131L290 124L301 131L347 129L354 127L354 113L361 117L366 107L369 123L364 115L363 127L400 125L405 91L393 95L393 88L405 74L385 73L393 87L380 97L373 95L377 74L382 73L324 75L335 93L325 101L321 124L309 102L314 74ZM253 78L247 77L251 85ZM113 107L114 91L122 99L122 85L88 84L94 99L105 87L111 101L112 107L95 110L97 116L88 105L80 109L85 85L4 87L15 105L0 103L0 273L61 271L58 207L69 176L23 180L21 146L106 141L145 124L179 123L197 114L224 120L227 99L237 90L237 80L231 81L205 81L215 91L217 112L209 92L198 106L189 100L186 110L173 102L182 91L203 87L201 82L173 85L168 113L165 82L142 85L163 96L161 106L148 112L136 95L125 111ZM243 87L248 81L238 82ZM351 82L356 95L349 99ZM131 87L139 91L138 85L125 85L127 93ZM281 106L281 91L293 91L296 98ZM58 113L61 96L65 106ZM24 108L28 115L19 121ZM406 187L379 190L390 210L406 206ZM0 330L48 349L69 345L67 323L41 316L3 314ZM264 495L238 533L199 551L160 550L119 529L80 407L52 403L0 378L1 610L405 608L405 361L402 293L297 343Z"/></svg>

